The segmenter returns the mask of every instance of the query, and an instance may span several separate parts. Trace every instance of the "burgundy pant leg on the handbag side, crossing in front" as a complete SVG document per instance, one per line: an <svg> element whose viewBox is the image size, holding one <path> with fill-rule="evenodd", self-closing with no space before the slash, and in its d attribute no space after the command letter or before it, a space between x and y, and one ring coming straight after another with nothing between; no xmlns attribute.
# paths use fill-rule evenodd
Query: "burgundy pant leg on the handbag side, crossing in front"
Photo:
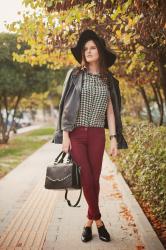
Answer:
<svg viewBox="0 0 166 250"><path fill-rule="evenodd" d="M71 140L71 156L73 160L81 167L81 183L85 199L88 203L88 219L101 217L98 200L96 199L96 190L92 168L88 158L88 131L84 127L77 127L69 133Z"/></svg>

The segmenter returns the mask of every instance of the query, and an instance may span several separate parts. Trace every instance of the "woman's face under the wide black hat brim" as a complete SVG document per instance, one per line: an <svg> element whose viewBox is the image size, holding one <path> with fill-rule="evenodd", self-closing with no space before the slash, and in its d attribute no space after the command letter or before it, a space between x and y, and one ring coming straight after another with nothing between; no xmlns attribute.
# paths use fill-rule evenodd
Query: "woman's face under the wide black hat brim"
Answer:
<svg viewBox="0 0 166 250"><path fill-rule="evenodd" d="M85 59L88 63L97 62L99 60L99 52L93 40L84 45Z"/></svg>

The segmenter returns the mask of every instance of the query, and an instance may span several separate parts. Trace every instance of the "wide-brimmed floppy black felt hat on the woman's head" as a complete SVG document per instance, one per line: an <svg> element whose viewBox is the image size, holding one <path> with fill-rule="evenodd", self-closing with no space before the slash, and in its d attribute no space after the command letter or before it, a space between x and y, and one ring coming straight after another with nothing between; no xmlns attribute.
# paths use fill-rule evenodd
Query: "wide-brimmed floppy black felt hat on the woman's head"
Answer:
<svg viewBox="0 0 166 250"><path fill-rule="evenodd" d="M97 40L100 44L101 49L103 50L103 53L105 55L105 62L107 67L110 67L114 64L116 60L116 55L106 47L105 40L101 37L99 37L93 30L84 30L78 39L77 45L73 48L71 48L71 52L75 59L81 64L82 55L81 50L84 46L84 44L89 40Z"/></svg>

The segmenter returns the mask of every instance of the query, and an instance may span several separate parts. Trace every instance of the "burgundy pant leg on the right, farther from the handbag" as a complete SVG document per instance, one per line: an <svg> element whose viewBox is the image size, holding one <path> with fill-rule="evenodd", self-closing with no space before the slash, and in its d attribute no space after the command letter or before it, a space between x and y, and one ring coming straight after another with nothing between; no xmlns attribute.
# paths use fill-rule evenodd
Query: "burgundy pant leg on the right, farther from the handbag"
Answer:
<svg viewBox="0 0 166 250"><path fill-rule="evenodd" d="M93 183L95 187L95 199L99 205L100 192L100 174L102 169L103 154L105 149L105 130L104 128L89 127L88 128L88 158L93 175ZM91 213L91 207L88 214ZM99 219L99 218L97 218Z"/></svg>

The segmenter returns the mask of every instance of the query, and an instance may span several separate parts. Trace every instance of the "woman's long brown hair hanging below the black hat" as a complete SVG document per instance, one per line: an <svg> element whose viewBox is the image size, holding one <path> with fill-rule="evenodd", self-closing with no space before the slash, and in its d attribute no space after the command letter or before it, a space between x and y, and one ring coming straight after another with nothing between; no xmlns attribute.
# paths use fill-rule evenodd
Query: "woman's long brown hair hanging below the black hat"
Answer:
<svg viewBox="0 0 166 250"><path fill-rule="evenodd" d="M95 45L97 47L97 50L98 50L98 53L99 53L100 77L104 82L107 83L109 70L108 70L108 67L106 65L103 50L102 50L101 45L98 42L98 40L95 40L95 39L90 39L90 40L92 40L95 43ZM87 69L88 68L88 62L86 61L86 58L85 58L85 44L82 47L81 55L82 55L81 69L84 69L84 68Z"/></svg>

